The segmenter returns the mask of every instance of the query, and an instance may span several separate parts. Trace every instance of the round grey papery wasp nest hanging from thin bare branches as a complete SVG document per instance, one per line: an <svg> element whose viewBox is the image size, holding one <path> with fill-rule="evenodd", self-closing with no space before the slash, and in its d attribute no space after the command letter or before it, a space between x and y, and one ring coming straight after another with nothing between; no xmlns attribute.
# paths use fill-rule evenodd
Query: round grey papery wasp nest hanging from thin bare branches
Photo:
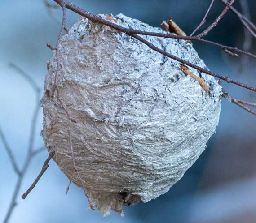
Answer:
<svg viewBox="0 0 256 223"><path fill-rule="evenodd" d="M105 16L102 15L105 18ZM122 14L112 22L165 32ZM184 60L206 67L185 40L144 36ZM138 40L80 19L60 43L57 85L69 120L52 99L55 51L44 82L44 142L62 172L84 188L102 214L148 202L166 193L206 148L221 110L221 86L190 69L210 86L203 90L180 63Z"/></svg>

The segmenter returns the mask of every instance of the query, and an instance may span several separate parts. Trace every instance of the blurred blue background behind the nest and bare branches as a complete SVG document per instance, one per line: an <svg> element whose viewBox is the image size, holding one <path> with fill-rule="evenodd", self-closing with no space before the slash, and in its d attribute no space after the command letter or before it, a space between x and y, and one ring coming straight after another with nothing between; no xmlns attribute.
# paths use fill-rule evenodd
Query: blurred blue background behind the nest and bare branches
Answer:
<svg viewBox="0 0 256 223"><path fill-rule="evenodd" d="M199 25L211 0L71 2L95 14L123 13L151 26L160 26L171 16L190 34ZM256 22L256 2L248 0L248 4L252 21ZM234 6L242 10L239 0ZM216 0L203 28L214 21L223 8L224 5ZM61 9L49 11L43 0L0 1L0 127L19 167L26 158L35 93L8 64L11 62L26 71L42 88L46 62L53 54L46 43L55 45L61 13ZM79 18L67 11L68 28ZM232 12L226 14L206 39L240 48L251 41L247 38L244 42L243 26ZM255 42L254 39L249 45L253 53L256 53ZM255 60L231 58L219 48L201 43L194 43L194 47L212 71L256 86ZM249 90L224 82L222 86L232 96L256 102L256 94ZM41 129L40 110L35 149L44 146ZM73 184L66 195L69 180L53 161L35 189L22 200L20 196L35 180L47 156L43 151L31 161L9 223L256 223L256 117L225 99L216 134L197 162L168 193L147 203L124 207L124 218L113 212L102 218L99 211L87 210L83 191ZM17 179L0 141L0 222L4 221Z"/></svg>

